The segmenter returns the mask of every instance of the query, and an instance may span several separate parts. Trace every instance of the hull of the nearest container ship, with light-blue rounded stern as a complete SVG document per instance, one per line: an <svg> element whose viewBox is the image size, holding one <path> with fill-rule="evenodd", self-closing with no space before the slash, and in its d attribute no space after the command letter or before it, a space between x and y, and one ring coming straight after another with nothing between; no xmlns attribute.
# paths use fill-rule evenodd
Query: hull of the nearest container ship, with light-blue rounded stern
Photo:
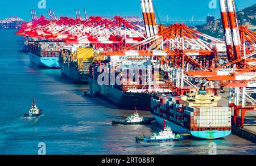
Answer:
<svg viewBox="0 0 256 166"><path fill-rule="evenodd" d="M159 125L163 125L163 118L156 116L155 114L152 114L152 116L155 118L156 122ZM166 126L170 126L171 129L175 132L175 133L179 133L179 134L184 134L184 133L189 133L191 134L193 137L196 138L203 138L203 139L218 139L218 138L223 138L228 136L229 134L231 134L231 131L229 130L210 130L210 131L190 131L185 129L182 126L179 126L177 124L174 124L173 122L170 121L166 121Z"/></svg>

